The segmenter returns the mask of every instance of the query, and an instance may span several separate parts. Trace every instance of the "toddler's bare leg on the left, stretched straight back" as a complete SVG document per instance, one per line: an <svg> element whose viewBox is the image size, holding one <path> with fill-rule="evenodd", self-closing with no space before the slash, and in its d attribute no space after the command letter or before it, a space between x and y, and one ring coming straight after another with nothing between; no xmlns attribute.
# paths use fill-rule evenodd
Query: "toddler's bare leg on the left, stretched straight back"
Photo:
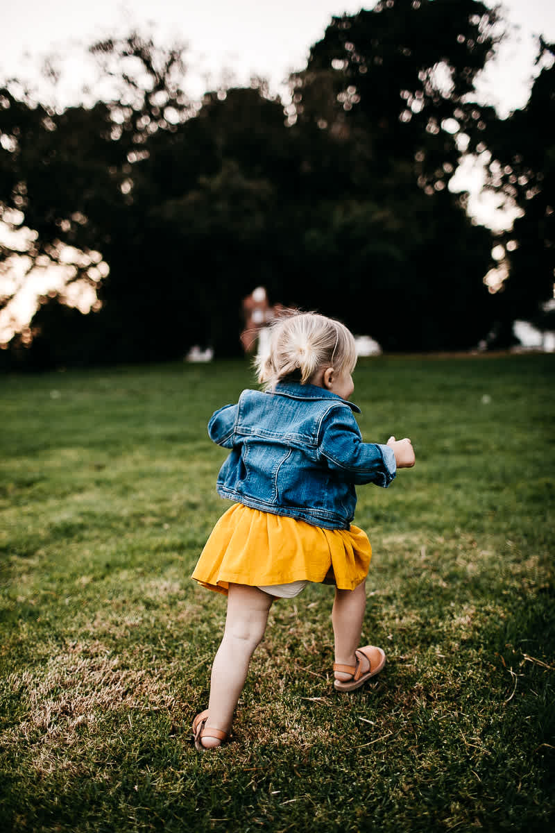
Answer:
<svg viewBox="0 0 555 833"><path fill-rule="evenodd" d="M250 657L264 636L272 601L273 596L258 587L230 584L224 636L212 664L207 727L230 731ZM220 742L211 736L201 741L207 749Z"/></svg>

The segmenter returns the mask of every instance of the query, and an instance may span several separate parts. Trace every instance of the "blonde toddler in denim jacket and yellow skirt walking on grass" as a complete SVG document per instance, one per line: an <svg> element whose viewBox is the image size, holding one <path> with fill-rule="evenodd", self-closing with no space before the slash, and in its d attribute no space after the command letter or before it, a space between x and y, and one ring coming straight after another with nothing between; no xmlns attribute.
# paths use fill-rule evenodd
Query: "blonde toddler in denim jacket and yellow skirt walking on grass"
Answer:
<svg viewBox="0 0 555 833"><path fill-rule="evenodd" d="M362 441L359 408L349 402L355 363L354 337L340 322L312 312L280 317L258 360L265 390L242 392L208 424L211 439L230 449L217 491L234 502L192 575L227 595L208 708L193 721L198 750L229 736L272 602L310 581L335 587L335 689L354 691L385 665L381 648L359 647L372 550L351 522L354 486L389 486L398 468L414 466L414 451L394 436L386 445Z"/></svg>

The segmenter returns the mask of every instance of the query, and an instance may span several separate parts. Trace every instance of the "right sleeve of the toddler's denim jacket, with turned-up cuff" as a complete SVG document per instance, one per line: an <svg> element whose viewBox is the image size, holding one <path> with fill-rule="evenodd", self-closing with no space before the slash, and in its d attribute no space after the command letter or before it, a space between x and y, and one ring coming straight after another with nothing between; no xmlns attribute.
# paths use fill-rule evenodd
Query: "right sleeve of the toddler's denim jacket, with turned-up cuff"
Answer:
<svg viewBox="0 0 555 833"><path fill-rule="evenodd" d="M353 483L375 483L385 489L397 470L389 446L363 442L353 412L344 406L335 407L322 421L320 455L330 469Z"/></svg>

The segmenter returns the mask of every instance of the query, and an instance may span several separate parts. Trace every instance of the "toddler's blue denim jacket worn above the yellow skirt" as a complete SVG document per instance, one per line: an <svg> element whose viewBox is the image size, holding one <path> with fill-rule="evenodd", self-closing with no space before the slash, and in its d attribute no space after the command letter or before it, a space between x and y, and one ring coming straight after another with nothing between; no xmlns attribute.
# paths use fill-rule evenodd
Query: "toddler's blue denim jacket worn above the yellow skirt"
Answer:
<svg viewBox="0 0 555 833"><path fill-rule="evenodd" d="M273 393L243 391L216 411L211 439L230 448L221 466L221 497L327 529L349 529L354 484L389 486L389 446L362 441L359 407L323 387L280 383Z"/></svg>

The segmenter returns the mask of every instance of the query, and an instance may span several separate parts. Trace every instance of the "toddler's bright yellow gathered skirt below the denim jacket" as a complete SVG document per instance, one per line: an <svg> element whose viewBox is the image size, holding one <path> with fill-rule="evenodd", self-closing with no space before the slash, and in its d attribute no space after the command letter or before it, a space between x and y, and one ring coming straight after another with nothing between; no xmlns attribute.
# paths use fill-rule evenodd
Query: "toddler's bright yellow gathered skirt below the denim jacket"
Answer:
<svg viewBox="0 0 555 833"><path fill-rule="evenodd" d="M354 590L368 573L372 547L351 524L324 529L234 503L211 531L192 578L227 595L228 586L330 581Z"/></svg>

